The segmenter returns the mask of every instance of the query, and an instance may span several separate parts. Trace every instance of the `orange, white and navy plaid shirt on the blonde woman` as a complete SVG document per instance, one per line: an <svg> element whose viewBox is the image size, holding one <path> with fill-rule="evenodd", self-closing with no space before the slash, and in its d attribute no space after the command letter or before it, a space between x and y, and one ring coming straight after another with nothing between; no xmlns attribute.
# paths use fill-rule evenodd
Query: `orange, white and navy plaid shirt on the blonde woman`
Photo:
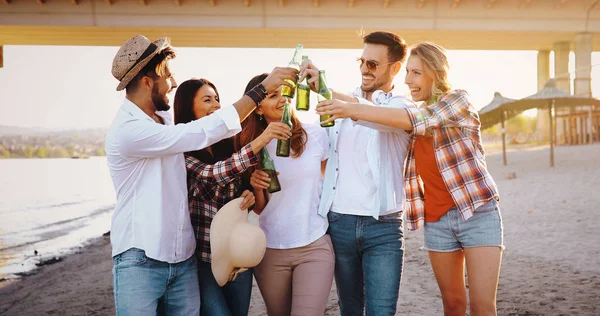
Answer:
<svg viewBox="0 0 600 316"><path fill-rule="evenodd" d="M433 135L438 169L463 219L473 216L479 206L499 199L486 168L479 115L466 91L455 90L437 103L406 110L413 125L405 170L410 230L417 230L425 219L422 182L415 164L417 135Z"/></svg>

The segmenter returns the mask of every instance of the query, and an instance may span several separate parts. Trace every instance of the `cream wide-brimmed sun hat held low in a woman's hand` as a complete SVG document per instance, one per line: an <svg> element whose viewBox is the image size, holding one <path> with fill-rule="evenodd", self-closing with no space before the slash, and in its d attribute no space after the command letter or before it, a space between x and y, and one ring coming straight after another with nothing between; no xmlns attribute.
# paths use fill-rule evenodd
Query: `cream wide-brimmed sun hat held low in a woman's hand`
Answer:
<svg viewBox="0 0 600 316"><path fill-rule="evenodd" d="M210 225L211 267L219 286L258 265L267 249L265 233L249 224L248 212L240 209L242 200L225 204Z"/></svg>

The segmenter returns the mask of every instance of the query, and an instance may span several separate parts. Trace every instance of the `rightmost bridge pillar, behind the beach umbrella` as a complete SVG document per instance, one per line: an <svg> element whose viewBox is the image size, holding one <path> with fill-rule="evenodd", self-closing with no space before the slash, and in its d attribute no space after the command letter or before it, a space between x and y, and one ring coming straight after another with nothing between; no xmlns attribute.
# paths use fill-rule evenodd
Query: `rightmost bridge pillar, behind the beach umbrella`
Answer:
<svg viewBox="0 0 600 316"><path fill-rule="evenodd" d="M575 94L582 97L592 96L592 34L580 33L575 35ZM593 107L585 107L587 118L581 118L581 143L591 143L594 139L592 128ZM585 135L584 135L585 134Z"/></svg>

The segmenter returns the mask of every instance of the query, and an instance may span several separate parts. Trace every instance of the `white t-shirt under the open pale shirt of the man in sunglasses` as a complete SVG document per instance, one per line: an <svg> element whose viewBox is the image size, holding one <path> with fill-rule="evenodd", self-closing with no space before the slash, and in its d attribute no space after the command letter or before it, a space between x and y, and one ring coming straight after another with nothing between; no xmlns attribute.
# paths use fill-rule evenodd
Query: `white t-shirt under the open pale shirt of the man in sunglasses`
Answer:
<svg viewBox="0 0 600 316"><path fill-rule="evenodd" d="M331 210L336 213L371 216L377 187L369 168L367 148L371 129L350 119L339 121L339 176Z"/></svg>

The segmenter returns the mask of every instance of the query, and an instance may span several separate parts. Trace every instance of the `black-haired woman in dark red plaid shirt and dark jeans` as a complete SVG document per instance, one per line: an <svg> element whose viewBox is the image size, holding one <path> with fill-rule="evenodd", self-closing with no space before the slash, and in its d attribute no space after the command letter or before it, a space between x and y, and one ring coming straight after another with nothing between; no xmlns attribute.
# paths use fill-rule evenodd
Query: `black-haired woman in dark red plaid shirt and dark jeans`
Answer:
<svg viewBox="0 0 600 316"><path fill-rule="evenodd" d="M175 124L211 115L221 108L217 87L206 79L190 79L177 88ZM229 201L243 197L241 208L254 204L254 195L242 175L258 163L258 152L273 139L288 139L290 128L280 122L265 127L245 146L235 137L223 139L202 150L185 153L190 217L196 235L201 315L247 315L252 293L252 270L223 288L211 270L210 224L217 211Z"/></svg>

